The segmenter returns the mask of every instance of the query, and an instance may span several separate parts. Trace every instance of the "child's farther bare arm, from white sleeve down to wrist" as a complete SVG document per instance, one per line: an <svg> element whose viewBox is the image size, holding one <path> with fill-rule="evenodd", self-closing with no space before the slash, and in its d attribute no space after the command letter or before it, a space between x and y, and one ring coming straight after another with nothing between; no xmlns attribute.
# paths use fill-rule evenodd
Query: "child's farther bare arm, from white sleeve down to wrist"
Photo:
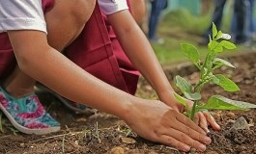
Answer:
<svg viewBox="0 0 256 154"><path fill-rule="evenodd" d="M130 13L114 13L108 19L131 63L146 77L160 98L170 95L173 89L156 59L155 52Z"/></svg>

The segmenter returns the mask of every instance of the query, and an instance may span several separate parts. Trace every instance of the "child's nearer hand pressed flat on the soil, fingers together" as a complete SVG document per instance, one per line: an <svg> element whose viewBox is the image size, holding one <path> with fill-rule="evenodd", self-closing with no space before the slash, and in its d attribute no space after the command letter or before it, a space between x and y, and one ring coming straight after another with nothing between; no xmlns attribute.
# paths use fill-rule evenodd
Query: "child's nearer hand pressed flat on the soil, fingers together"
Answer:
<svg viewBox="0 0 256 154"><path fill-rule="evenodd" d="M173 146L182 151L190 147L206 150L211 139L192 120L156 100L143 100L132 104L125 119L140 137Z"/></svg>

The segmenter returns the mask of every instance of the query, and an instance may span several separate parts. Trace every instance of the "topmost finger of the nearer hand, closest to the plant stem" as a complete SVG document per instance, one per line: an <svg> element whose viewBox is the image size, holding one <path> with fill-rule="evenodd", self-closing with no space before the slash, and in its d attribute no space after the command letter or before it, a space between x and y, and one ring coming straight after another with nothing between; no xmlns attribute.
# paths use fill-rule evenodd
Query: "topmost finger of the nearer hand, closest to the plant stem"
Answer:
<svg viewBox="0 0 256 154"><path fill-rule="evenodd" d="M179 122L183 123L186 127L189 127L198 133L206 135L206 132L202 128L200 128L198 125L196 125L192 120L190 120L188 117L186 117L183 114L180 114L180 113L178 114L179 116L177 115L176 118Z"/></svg>

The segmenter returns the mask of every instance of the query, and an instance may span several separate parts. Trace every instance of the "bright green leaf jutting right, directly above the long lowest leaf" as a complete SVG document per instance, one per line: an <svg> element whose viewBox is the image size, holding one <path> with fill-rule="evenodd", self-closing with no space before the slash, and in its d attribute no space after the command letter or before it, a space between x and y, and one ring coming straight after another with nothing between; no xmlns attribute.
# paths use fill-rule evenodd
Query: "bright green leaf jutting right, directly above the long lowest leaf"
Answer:
<svg viewBox="0 0 256 154"><path fill-rule="evenodd" d="M237 90L240 90L240 88L232 80L226 78L225 76L223 76L221 74L216 74L214 76L216 78L218 78L218 80L219 80L218 83L214 83L214 84L220 86L224 90L227 90L227 91L237 91Z"/></svg>

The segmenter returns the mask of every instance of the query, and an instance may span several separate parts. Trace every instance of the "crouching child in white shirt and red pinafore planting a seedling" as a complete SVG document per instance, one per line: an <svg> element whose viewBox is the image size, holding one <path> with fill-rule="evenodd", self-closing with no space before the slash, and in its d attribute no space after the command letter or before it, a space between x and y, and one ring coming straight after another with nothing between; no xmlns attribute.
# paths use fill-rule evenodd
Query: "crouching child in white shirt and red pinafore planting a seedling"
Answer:
<svg viewBox="0 0 256 154"><path fill-rule="evenodd" d="M0 31L3 32L0 36L3 40L0 41L0 54L5 56L0 56L1 64L3 62L0 71L4 81L0 92L1 110L11 119L14 126L24 133L45 134L58 131L59 123L45 113L38 97L34 94L35 82L32 79L35 79L74 102L119 116L134 132L145 139L175 146L183 151L188 151L191 146L204 151L205 144L209 144L211 139L193 121L179 113L184 111L184 107L175 100L174 90L157 62L150 43L128 12L126 0L98 2L93 0L67 0L66 3L60 0L0 2ZM83 37L81 32L91 23L90 20L88 21L91 15L90 19L93 18L94 22L100 21L97 20L100 17L100 9L107 14L108 21L128 59L150 82L161 101L146 100L125 92L124 88L128 91L128 83L124 82L121 71L109 69L113 71L112 76L104 78L112 82L106 84L96 78L97 75L88 73L90 68L94 69L94 67L86 66L87 71L84 71L71 62L77 60L75 62L79 64L79 51L77 53L69 51L72 51L74 44L79 43L81 40L79 38ZM98 22L98 24L102 23ZM100 30L97 28L90 33L94 36ZM106 43L105 50L109 51L111 49L109 47L107 49L109 39L102 36L101 39ZM93 41L94 39L89 38L86 42L80 43L92 47L90 44ZM98 49L97 46L94 47ZM71 60L58 52L63 49L67 50ZM11 69L13 53L17 62L15 69ZM107 58L102 57L102 60L105 60L103 62L106 62L102 65L114 64L116 61L112 60L115 59L115 55L112 56L111 52L106 54L110 55L106 55ZM98 54L92 50L89 55L97 57ZM82 63L84 61L89 65L94 64L90 57L80 60ZM125 69L122 70L126 72ZM115 80L112 80L112 77ZM122 81L120 79L123 79L123 82L120 82ZM198 114L198 123L202 128L207 128L208 122L214 129L219 129L212 116Z"/></svg>

